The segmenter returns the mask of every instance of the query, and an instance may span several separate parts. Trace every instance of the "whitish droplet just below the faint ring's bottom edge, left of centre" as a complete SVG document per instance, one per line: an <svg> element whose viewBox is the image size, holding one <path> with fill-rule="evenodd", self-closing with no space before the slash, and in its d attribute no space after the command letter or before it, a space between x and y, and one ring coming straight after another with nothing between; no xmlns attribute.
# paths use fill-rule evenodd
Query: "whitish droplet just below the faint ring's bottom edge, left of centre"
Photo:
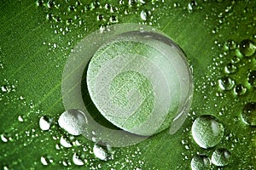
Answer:
<svg viewBox="0 0 256 170"><path fill-rule="evenodd" d="M99 141L96 144L94 144L93 153L98 159L102 161L108 161L113 159L112 148L108 143L105 143L105 142L102 143L102 141Z"/></svg>

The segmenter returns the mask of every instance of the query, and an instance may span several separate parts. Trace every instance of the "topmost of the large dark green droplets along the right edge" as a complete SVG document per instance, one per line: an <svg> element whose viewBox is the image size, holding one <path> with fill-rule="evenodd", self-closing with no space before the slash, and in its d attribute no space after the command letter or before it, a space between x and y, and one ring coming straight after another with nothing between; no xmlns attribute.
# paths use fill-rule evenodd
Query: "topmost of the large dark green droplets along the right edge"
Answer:
<svg viewBox="0 0 256 170"><path fill-rule="evenodd" d="M255 53L256 46L252 40L243 40L240 43L240 52L241 54L250 57Z"/></svg>

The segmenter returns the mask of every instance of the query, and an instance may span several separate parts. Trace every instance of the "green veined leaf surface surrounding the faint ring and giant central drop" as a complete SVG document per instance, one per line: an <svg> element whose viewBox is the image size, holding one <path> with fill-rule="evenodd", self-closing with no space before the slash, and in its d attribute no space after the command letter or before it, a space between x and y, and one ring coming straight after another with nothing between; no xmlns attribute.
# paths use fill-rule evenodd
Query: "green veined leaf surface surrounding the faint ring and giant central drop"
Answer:
<svg viewBox="0 0 256 170"><path fill-rule="evenodd" d="M253 0L1 1L0 167L189 169L194 156L205 155L214 160L212 169L255 168L255 107L247 108L256 101L255 6ZM93 142L65 133L57 123L65 111L61 78L76 44L116 23L152 25L177 42L193 70L195 91L177 133L165 130L139 144L113 148L113 159L102 161L92 154ZM230 90L219 87L224 77L235 82ZM201 115L215 116L224 126L224 137L207 150L191 134ZM42 116L49 130L40 128ZM92 117L108 124L99 114ZM229 160L219 150L227 150Z"/></svg>

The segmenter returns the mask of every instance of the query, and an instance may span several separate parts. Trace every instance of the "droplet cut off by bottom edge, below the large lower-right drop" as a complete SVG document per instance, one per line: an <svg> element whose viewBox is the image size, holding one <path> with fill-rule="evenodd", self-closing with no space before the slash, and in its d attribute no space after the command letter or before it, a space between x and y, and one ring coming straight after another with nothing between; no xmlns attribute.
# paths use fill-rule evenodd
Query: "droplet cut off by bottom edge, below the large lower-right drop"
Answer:
<svg viewBox="0 0 256 170"><path fill-rule="evenodd" d="M211 167L211 160L205 155L196 155L192 158L190 166L192 170L207 170Z"/></svg>

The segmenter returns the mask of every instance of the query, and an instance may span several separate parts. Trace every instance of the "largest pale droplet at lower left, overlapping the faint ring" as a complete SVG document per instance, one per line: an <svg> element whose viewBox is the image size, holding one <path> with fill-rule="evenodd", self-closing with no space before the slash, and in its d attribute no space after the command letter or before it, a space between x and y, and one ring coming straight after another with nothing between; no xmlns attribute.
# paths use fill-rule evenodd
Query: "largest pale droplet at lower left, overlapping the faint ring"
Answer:
<svg viewBox="0 0 256 170"><path fill-rule="evenodd" d="M87 117L83 111L70 109L61 114L58 123L67 133L78 136L84 131L84 125L87 124Z"/></svg>

